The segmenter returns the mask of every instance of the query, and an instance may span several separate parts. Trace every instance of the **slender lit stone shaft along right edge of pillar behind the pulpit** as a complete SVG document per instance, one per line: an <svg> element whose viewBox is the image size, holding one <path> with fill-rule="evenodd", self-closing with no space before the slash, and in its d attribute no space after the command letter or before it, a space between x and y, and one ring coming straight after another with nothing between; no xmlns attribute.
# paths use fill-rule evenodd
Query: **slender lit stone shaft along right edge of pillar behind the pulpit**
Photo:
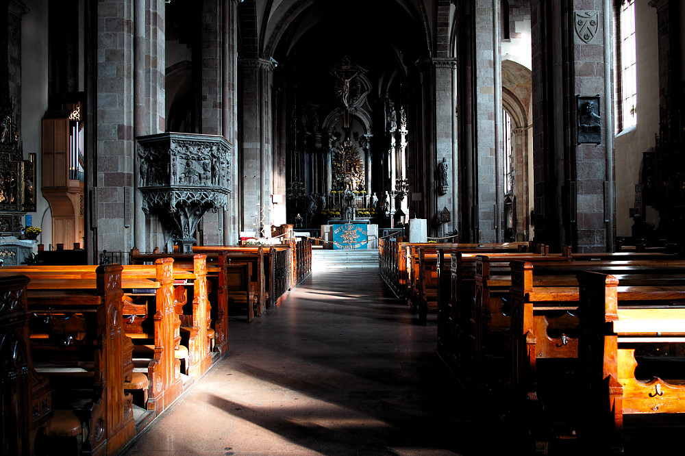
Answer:
<svg viewBox="0 0 685 456"><path fill-rule="evenodd" d="M227 209L223 212L223 244L238 243L238 103L236 81L238 77L238 3L239 0L223 0L223 46L222 46L222 134L232 145L230 162L234 164L229 170L231 175L231 196Z"/></svg>

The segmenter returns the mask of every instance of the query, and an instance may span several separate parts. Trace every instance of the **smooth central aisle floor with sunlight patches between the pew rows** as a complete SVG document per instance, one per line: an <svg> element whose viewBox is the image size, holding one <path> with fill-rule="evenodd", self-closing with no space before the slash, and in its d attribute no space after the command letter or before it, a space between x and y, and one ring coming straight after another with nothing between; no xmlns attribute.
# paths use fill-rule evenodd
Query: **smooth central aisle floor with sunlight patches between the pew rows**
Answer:
<svg viewBox="0 0 685 456"><path fill-rule="evenodd" d="M490 454L435 320L416 325L377 268L314 271L279 308L232 320L229 346L125 454Z"/></svg>

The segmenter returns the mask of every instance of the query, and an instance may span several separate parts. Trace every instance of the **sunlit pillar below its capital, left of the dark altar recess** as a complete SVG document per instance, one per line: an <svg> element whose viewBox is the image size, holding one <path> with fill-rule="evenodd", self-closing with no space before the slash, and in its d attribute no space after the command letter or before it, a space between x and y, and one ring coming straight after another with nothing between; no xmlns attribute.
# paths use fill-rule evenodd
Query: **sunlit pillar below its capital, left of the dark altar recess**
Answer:
<svg viewBox="0 0 685 456"><path fill-rule="evenodd" d="M271 88L273 64L264 59L238 61L242 77L242 230L264 208L270 217L272 181Z"/></svg>

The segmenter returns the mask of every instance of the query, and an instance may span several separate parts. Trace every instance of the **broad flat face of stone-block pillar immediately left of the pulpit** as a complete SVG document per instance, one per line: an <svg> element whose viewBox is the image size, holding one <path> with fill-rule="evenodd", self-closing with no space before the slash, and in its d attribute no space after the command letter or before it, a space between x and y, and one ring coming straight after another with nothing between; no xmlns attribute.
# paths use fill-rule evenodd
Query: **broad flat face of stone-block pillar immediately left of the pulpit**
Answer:
<svg viewBox="0 0 685 456"><path fill-rule="evenodd" d="M133 247L134 4L103 0L97 8L97 249Z"/></svg>

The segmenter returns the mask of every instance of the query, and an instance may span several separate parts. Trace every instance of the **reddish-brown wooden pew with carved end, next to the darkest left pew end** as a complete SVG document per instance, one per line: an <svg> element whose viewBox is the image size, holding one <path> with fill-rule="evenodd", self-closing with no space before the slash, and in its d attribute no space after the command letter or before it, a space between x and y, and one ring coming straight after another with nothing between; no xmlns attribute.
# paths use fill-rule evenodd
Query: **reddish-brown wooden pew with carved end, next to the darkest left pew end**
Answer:
<svg viewBox="0 0 685 456"><path fill-rule="evenodd" d="M88 429L84 433L83 451L94 455L114 454L121 450L136 434L132 398L124 392L124 383L132 377L132 343L125 337L122 327L121 266L90 266L90 273L71 278L70 266L64 266L69 277L45 277L38 272L40 266L0 268L0 276L16 274L21 268L29 277L27 299L29 312L38 316L56 318L73 316L66 328L79 328L80 335L65 333L58 340L51 338L32 340L34 362L41 352L50 355L45 362L64 359L78 361L79 367L92 366L92 370L65 374L52 366L45 366L53 390L53 409L68 411ZM82 268L82 266L79 266ZM54 275L53 272L49 275ZM68 331L67 331L68 332ZM78 351L71 347L78 348ZM55 356L58 355L58 356ZM84 356L87 356L84 359ZM34 364L37 366L37 364ZM63 414L55 413L43 429L49 435L55 420Z"/></svg>

